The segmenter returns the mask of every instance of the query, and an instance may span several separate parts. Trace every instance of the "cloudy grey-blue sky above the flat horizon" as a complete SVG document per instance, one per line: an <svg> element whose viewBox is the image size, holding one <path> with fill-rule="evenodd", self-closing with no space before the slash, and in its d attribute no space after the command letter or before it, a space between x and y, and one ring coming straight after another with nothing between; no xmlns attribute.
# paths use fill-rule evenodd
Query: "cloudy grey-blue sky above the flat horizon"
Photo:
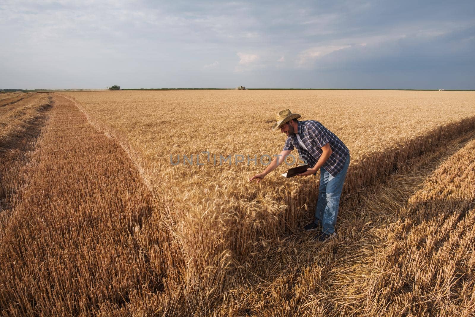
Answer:
<svg viewBox="0 0 475 317"><path fill-rule="evenodd" d="M0 88L475 89L475 1L0 0Z"/></svg>

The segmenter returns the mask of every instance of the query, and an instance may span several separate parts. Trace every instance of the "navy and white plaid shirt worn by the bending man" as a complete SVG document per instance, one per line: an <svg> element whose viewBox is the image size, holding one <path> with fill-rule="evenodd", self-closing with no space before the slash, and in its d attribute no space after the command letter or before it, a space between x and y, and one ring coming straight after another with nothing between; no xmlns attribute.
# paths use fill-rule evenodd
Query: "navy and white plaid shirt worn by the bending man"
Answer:
<svg viewBox="0 0 475 317"><path fill-rule="evenodd" d="M330 155L322 167L333 177L340 173L345 164L346 157L350 155L350 151L338 136L315 120L297 121L297 126L297 134L307 149L305 150L300 146L297 136L294 134L289 135L287 140L285 140L282 150L293 150L296 147L300 158L313 168L323 153L321 148L329 143L332 148L332 155Z"/></svg>

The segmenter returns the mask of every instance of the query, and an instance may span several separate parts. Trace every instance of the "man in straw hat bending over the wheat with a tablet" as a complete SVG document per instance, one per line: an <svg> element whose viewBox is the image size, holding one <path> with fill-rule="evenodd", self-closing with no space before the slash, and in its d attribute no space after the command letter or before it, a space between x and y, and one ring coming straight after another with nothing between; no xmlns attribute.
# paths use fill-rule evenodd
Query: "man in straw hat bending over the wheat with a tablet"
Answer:
<svg viewBox="0 0 475 317"><path fill-rule="evenodd" d="M280 128L287 135L284 148L279 156L267 166L264 172L249 179L256 179L259 183L266 175L276 169L285 157L297 148L298 154L311 168L297 176L306 176L317 173L320 169L320 188L315 220L307 224L307 231L317 230L322 225L322 231L316 239L325 241L335 235L336 217L340 205L343 183L346 171L350 165L350 152L345 144L320 122L314 120L298 121L299 114L293 114L289 109L280 111L277 122L272 130Z"/></svg>

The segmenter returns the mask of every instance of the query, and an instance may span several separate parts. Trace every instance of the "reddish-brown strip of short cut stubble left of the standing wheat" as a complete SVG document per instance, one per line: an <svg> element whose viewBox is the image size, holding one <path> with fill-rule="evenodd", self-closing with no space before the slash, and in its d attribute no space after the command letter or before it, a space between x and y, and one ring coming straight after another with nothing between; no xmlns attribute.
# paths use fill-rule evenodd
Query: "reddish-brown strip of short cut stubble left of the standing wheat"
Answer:
<svg viewBox="0 0 475 317"><path fill-rule="evenodd" d="M167 231L147 221L159 240L141 233L142 221L163 214L161 201L74 104L56 97L50 113L14 208L2 213L0 308L13 316L107 314L163 287Z"/></svg>

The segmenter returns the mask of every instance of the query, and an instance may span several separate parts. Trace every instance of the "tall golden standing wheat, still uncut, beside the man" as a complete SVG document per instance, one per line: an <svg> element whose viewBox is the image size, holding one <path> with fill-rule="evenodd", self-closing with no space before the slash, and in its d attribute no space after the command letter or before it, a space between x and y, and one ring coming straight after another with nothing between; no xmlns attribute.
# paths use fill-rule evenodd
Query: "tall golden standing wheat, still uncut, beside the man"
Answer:
<svg viewBox="0 0 475 317"><path fill-rule="evenodd" d="M183 255L188 312L209 312L239 280L270 276L270 242L309 219L318 183L247 179L262 166L179 164L177 154L276 154L285 137L270 131L275 113L290 108L317 119L348 145L346 192L364 189L427 147L473 128L473 92L168 91L68 93L92 120L123 134L138 153L154 192L172 197L167 225ZM447 110L449 108L449 110ZM206 161L201 154L200 161ZM195 158L196 163L196 158ZM283 170L285 167L282 167ZM342 209L339 223L354 223ZM357 222L358 223L358 222ZM362 224L360 224L362 225ZM356 226L357 231L365 228ZM364 237L364 232L361 233ZM264 263L265 265L258 265Z"/></svg>

